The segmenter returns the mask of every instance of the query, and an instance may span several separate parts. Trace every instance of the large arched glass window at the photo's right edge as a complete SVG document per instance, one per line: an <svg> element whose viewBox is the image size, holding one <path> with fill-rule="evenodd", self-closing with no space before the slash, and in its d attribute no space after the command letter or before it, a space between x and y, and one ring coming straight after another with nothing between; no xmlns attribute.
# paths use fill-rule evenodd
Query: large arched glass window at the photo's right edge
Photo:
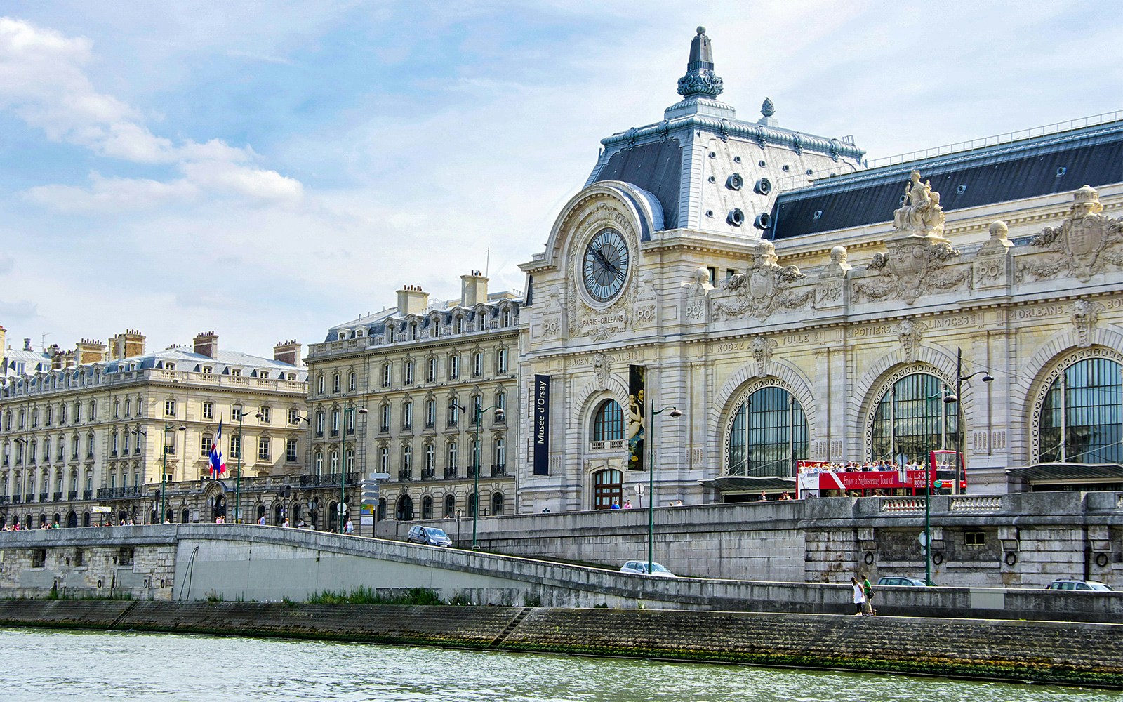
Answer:
<svg viewBox="0 0 1123 702"><path fill-rule="evenodd" d="M1123 462L1123 379L1110 358L1069 365L1041 404L1038 461Z"/></svg>

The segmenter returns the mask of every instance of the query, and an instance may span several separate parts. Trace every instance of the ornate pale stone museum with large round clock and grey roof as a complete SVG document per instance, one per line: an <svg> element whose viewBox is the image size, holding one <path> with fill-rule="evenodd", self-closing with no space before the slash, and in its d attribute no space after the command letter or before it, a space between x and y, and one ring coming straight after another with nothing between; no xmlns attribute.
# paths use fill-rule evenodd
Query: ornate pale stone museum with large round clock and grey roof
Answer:
<svg viewBox="0 0 1123 702"><path fill-rule="evenodd" d="M969 493L1123 486L1123 115L866 161L722 90L700 27L522 264L520 511L958 448Z"/></svg>

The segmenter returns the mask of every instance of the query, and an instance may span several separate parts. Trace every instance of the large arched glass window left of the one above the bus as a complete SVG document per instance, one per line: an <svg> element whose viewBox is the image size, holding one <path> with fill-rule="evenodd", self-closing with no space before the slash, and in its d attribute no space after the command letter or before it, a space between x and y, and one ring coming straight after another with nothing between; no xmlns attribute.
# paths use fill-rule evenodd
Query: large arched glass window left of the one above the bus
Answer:
<svg viewBox="0 0 1123 702"><path fill-rule="evenodd" d="M730 475L794 476L807 457L807 418L792 393L774 385L738 402L729 428Z"/></svg>

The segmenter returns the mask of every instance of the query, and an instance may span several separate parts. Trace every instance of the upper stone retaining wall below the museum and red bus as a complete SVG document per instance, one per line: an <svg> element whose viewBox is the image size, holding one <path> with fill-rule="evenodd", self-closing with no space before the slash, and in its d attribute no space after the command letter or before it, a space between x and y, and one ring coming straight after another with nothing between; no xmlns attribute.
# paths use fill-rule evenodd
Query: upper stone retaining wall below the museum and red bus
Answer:
<svg viewBox="0 0 1123 702"><path fill-rule="evenodd" d="M1097 580L1123 590L1123 493L934 495L932 580L1044 587ZM405 538L416 522L382 521ZM472 543L471 519L423 523ZM648 510L481 517L484 550L620 567L647 559ZM855 573L924 577L923 498L824 498L655 509L655 559L679 575L848 583Z"/></svg>

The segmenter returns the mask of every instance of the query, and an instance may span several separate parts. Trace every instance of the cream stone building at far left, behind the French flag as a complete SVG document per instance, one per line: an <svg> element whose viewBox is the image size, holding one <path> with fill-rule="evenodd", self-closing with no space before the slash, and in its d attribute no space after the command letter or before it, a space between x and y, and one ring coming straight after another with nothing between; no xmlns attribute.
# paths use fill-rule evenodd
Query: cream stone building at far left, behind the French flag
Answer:
<svg viewBox="0 0 1123 702"><path fill-rule="evenodd" d="M0 382L0 523L148 523L159 521L161 502L175 522L232 518L236 502L244 519L272 518L304 465L305 372L222 352L218 340L206 332L193 348L146 354L145 337L130 330L108 345L48 349L33 365L28 352L9 352L18 363L6 362L11 372ZM293 348L274 350L299 361ZM216 441L228 466L219 481L210 471ZM254 481L273 485L273 499L238 500L240 483Z"/></svg>

